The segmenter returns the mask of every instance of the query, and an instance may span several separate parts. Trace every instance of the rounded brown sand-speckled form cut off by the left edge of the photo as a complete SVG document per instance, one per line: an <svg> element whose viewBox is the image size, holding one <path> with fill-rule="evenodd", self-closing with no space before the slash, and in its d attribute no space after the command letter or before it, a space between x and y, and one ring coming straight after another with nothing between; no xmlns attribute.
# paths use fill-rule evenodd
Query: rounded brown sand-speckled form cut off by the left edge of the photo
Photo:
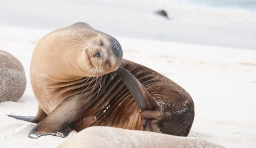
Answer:
<svg viewBox="0 0 256 148"><path fill-rule="evenodd" d="M24 68L12 54L0 50L0 102L17 101L26 88Z"/></svg>

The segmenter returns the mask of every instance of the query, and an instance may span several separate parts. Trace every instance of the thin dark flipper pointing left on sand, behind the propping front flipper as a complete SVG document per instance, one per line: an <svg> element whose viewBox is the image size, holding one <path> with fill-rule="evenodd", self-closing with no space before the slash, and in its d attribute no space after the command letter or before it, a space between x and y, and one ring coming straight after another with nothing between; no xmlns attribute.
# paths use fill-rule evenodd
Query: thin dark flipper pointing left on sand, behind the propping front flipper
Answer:
<svg viewBox="0 0 256 148"><path fill-rule="evenodd" d="M15 115L7 115L9 117L18 119L18 120L23 120L23 121L28 121L32 123L39 123L42 119L44 119L47 114L41 109L40 106L38 106L38 111L35 117L32 116L15 116Z"/></svg>

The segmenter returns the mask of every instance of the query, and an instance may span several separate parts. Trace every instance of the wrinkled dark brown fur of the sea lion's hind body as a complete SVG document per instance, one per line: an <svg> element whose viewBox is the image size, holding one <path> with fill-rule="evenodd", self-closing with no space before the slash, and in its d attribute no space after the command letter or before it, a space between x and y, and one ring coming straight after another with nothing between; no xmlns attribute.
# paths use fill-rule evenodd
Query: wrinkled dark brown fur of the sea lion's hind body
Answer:
<svg viewBox="0 0 256 148"><path fill-rule="evenodd" d="M76 130L93 125L150 130L142 125L146 119L148 123L145 124L156 122L165 134L187 136L194 118L190 95L175 82L150 68L125 59L120 67L127 69L147 89L156 101L149 102L156 105L154 109L139 109L121 77L115 73L106 74L100 94L94 96L92 101L90 99L94 103L84 113L89 115L89 118L84 117L89 121L85 120ZM94 117L96 119L92 120Z"/></svg>

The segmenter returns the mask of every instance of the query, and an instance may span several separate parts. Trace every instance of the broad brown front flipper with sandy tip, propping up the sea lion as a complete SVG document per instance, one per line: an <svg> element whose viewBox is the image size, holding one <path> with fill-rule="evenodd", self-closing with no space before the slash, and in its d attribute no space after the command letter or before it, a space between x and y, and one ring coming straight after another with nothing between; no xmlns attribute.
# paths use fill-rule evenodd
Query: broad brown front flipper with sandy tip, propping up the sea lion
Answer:
<svg viewBox="0 0 256 148"><path fill-rule="evenodd" d="M66 137L82 120L85 105L81 95L73 95L60 103L45 119L30 132L30 138L43 135Z"/></svg>

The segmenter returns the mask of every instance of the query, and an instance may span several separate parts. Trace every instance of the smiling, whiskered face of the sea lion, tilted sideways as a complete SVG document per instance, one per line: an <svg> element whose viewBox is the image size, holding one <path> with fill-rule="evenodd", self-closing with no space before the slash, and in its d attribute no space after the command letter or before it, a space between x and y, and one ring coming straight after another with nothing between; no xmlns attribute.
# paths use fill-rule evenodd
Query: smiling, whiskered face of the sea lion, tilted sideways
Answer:
<svg viewBox="0 0 256 148"><path fill-rule="evenodd" d="M91 67L98 69L101 75L117 70L123 57L121 44L114 37L101 34L91 39L90 42L87 60Z"/></svg>

